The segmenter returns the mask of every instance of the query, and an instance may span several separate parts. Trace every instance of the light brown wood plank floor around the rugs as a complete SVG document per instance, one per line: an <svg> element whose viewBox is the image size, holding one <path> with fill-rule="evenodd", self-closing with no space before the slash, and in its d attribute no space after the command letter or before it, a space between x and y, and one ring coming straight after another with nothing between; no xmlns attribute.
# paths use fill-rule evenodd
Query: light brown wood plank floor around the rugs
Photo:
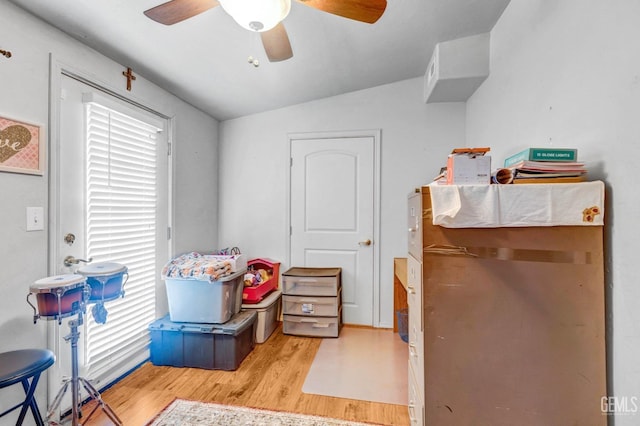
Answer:
<svg viewBox="0 0 640 426"><path fill-rule="evenodd" d="M104 391L102 398L125 426L145 425L174 398L383 425L409 424L408 410L404 405L302 393L307 371L321 341L284 335L280 325L266 342L256 344L235 371L159 367L146 363ZM88 414L90 407L83 411ZM98 409L83 424L102 426L112 423Z"/></svg>

